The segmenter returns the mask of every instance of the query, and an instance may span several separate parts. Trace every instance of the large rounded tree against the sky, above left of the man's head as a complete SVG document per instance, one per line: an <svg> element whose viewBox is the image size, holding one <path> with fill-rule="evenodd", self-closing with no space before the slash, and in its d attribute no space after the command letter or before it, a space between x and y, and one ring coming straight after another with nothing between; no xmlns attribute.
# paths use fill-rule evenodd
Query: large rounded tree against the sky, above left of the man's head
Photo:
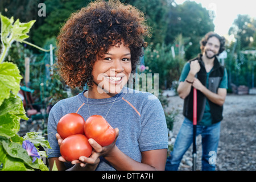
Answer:
<svg viewBox="0 0 256 182"><path fill-rule="evenodd" d="M201 38L207 32L214 30L213 20L210 19L208 10L196 2L185 1L181 5L175 3L171 3L171 5L168 12L165 42L166 44L173 43L179 34L182 34L184 38L190 38L189 42L193 46L187 49L185 58L191 59L200 53Z"/></svg>

